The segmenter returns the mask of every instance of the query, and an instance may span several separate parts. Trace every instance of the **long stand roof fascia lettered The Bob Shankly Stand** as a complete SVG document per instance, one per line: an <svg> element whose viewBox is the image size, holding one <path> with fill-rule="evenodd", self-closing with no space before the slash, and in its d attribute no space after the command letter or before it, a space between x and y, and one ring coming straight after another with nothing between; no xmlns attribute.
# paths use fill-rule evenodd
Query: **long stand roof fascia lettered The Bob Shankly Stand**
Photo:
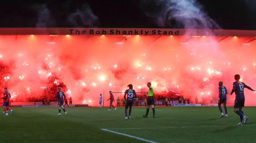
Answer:
<svg viewBox="0 0 256 143"><path fill-rule="evenodd" d="M0 28L0 35L256 36L256 31L162 28Z"/></svg>

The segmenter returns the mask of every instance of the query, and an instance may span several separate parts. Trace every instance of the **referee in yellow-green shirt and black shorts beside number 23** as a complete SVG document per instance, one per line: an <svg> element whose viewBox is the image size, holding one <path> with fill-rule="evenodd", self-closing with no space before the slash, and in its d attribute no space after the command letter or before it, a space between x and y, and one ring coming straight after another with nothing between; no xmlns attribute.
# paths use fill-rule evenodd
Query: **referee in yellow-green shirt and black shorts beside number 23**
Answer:
<svg viewBox="0 0 256 143"><path fill-rule="evenodd" d="M148 83L148 84L147 84L147 86L148 86L148 88L149 88L149 90L148 90L148 100L147 100L147 113L146 113L146 115L143 115L143 117L148 118L149 106L151 105L152 110L153 110L153 117L152 117L152 118L155 118L155 108L154 108L154 105L155 105L154 89L152 88L151 83Z"/></svg>

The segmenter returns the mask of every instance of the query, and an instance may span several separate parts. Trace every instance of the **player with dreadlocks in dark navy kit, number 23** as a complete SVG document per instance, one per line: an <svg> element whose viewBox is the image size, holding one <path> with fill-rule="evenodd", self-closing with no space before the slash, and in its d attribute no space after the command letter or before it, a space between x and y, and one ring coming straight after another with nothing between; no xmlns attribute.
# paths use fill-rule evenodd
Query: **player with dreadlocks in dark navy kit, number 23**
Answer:
<svg viewBox="0 0 256 143"><path fill-rule="evenodd" d="M133 98L136 98L136 92L135 90L133 90L133 85L129 84L127 87L129 87L129 89L127 89L124 93L124 98L126 99L126 104L125 104L125 119L127 119L127 109L128 107L130 107L129 109L129 118L132 112L132 106L133 106ZM126 94L127 94L127 98L126 98Z"/></svg>

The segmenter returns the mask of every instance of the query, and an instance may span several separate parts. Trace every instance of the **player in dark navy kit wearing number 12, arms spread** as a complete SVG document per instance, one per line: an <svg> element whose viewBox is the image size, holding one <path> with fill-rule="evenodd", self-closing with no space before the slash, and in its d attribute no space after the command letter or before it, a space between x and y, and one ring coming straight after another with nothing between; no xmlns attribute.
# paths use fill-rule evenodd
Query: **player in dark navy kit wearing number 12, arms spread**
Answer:
<svg viewBox="0 0 256 143"><path fill-rule="evenodd" d="M244 115L243 112L243 107L245 107L245 95L244 95L244 87L247 89L250 89L251 91L255 91L253 89L251 89L251 87L245 85L245 83L239 81L240 80L240 75L236 74L235 75L235 82L233 83L233 89L230 92L230 94L232 95L232 93L236 93L236 99L234 102L234 112L236 112L237 115L240 116L240 123L238 125L242 125L245 124L246 121L248 120L248 117L246 117ZM244 123L242 122L244 118Z"/></svg>

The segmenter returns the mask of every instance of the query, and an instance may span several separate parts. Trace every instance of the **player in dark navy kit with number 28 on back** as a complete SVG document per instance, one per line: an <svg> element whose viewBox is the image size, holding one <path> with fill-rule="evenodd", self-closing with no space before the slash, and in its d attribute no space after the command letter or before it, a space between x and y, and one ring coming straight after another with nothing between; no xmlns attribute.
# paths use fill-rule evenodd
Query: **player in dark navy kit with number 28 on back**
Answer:
<svg viewBox="0 0 256 143"><path fill-rule="evenodd" d="M222 109L220 107L221 104L223 104L224 109L225 109L225 113L226 113L225 118L228 118L227 107L226 107L226 103L227 103L227 95L226 94L228 94L228 92L227 92L226 87L223 86L222 84L223 84L223 82L220 81L219 82L219 101L218 101L218 107L219 107L220 112L221 112L220 118L224 117L224 114L223 114Z"/></svg>

